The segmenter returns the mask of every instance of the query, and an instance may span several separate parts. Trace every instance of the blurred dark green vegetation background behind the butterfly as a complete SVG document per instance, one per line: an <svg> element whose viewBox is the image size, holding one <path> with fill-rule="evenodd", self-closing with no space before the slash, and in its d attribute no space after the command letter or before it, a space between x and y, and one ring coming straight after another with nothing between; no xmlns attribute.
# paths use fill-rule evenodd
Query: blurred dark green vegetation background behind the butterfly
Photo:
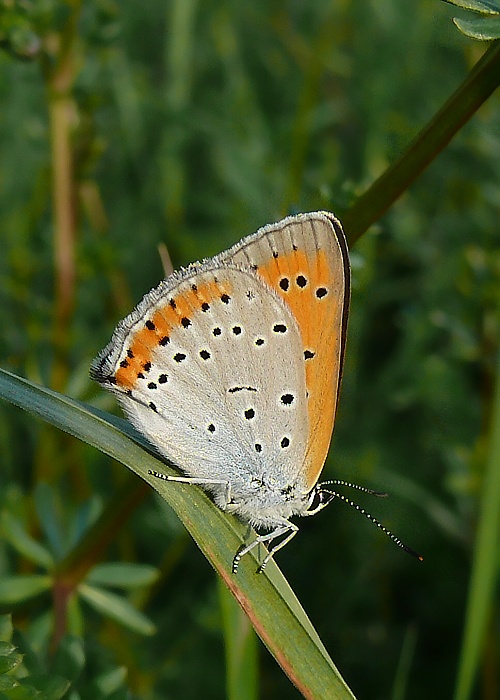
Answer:
<svg viewBox="0 0 500 700"><path fill-rule="evenodd" d="M0 10L0 362L107 410L113 400L88 367L163 276L160 243L178 267L289 213L342 218L484 51L433 0ZM448 698L456 684L496 373L499 107L494 95L351 254L323 475L388 491L358 500L425 561L342 503L301 522L277 557L359 698ZM65 187L73 205L59 200L55 223ZM0 465L2 512L56 558L127 477L6 404ZM7 539L0 570L35 572ZM129 594L157 633L83 605L69 624L84 634L87 669L127 667L133 697L224 697L216 578L153 494L104 560L159 569ZM14 607L38 649L50 605L41 596ZM499 634L497 596L473 697L500 694ZM299 697L263 647L260 671L261 698Z"/></svg>

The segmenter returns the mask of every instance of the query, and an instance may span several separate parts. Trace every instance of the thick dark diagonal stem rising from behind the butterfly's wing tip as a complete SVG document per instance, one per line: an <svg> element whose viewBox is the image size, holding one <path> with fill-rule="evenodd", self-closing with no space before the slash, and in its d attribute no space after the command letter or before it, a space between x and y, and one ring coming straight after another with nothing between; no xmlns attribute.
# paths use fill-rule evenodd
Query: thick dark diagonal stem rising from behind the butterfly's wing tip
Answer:
<svg viewBox="0 0 500 700"><path fill-rule="evenodd" d="M495 41L405 153L344 214L350 246L408 189L499 84L500 41Z"/></svg>

